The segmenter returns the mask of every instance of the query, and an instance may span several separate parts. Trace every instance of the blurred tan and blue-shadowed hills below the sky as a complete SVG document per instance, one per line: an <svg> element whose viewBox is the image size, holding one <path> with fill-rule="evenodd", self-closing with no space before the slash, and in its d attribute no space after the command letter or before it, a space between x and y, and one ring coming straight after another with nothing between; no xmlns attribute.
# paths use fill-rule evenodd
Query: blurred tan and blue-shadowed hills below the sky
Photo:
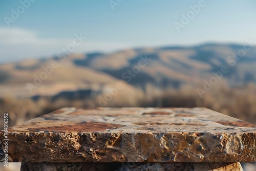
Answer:
<svg viewBox="0 0 256 171"><path fill-rule="evenodd" d="M198 86L218 74L229 86L241 86L256 81L256 48L244 48L233 44L140 48L7 63L0 66L0 96L83 99L115 88L118 82L132 96L137 89L147 91L148 85Z"/></svg>

